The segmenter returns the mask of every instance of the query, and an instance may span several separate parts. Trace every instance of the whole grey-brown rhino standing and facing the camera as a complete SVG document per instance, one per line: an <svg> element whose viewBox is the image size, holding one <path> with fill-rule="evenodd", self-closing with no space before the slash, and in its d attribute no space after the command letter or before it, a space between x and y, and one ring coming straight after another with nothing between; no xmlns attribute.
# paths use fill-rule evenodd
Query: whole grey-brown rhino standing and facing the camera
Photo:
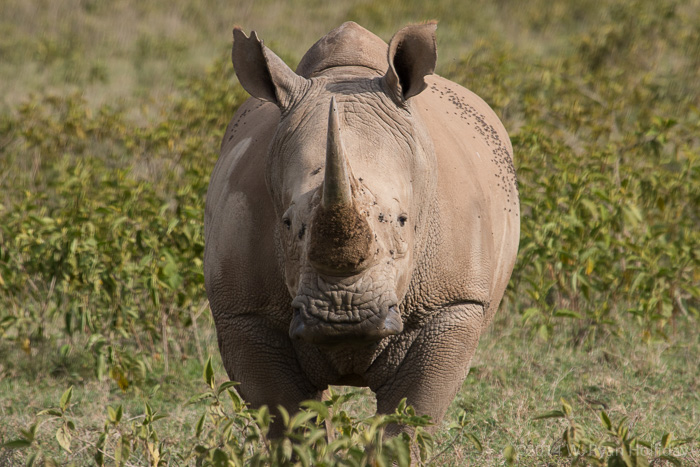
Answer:
<svg viewBox="0 0 700 467"><path fill-rule="evenodd" d="M515 261L512 147L479 97L433 73L435 24L389 46L355 23L296 73L234 30L253 96L207 195L206 289L219 349L253 406L369 386L438 423ZM273 426L273 434L281 426Z"/></svg>

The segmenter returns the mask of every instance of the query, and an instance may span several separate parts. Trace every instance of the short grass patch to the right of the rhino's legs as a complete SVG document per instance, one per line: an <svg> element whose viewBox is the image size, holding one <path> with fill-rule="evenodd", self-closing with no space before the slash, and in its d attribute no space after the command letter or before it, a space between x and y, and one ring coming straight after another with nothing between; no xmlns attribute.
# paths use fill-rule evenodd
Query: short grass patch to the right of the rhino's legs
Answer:
<svg viewBox="0 0 700 467"><path fill-rule="evenodd" d="M519 454L517 465L566 464L550 453L561 446L567 424L533 420L560 408L561 398L572 404L581 426L599 434L599 414L605 410L613 421L628 417L635 434L649 441L666 432L698 437L700 379L694 356L700 341L692 327L665 343L640 345L630 334L590 347L572 346L564 329L544 343L523 339L514 327L512 317L501 317L482 340L454 404L467 410L470 429L488 448L482 455L455 448L448 462L497 465L510 444ZM697 447L687 452L684 462L697 463Z"/></svg>

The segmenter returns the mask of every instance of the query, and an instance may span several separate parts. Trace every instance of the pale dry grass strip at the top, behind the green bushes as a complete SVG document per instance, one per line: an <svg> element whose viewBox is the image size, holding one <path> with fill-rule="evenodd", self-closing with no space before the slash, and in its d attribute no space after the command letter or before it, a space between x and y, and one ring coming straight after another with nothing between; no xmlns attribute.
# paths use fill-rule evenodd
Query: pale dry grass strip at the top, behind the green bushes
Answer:
<svg viewBox="0 0 700 467"><path fill-rule="evenodd" d="M697 18L697 1L672 4L687 21ZM531 54L570 52L572 38L606 22L610 10L627 6L619 0L605 8L590 0L553 2L546 8L508 0L469 5L454 0L430 5L417 0L7 0L0 5L1 108L7 111L30 94L72 91L94 104L148 105L178 93L183 79L227 56L233 25L257 30L268 46L296 64L311 44L343 21L356 21L388 40L406 23L437 19L440 72L482 41L506 41ZM629 6L640 14L649 9L645 2ZM679 54L698 50L664 52L660 65L672 67L682 65ZM682 66L676 71L694 72Z"/></svg>

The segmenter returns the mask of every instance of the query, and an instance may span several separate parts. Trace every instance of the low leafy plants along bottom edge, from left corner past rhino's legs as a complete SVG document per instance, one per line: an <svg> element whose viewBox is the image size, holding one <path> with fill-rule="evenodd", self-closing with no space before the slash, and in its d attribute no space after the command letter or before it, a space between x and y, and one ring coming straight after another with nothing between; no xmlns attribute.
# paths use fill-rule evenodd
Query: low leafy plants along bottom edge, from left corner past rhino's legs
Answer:
<svg viewBox="0 0 700 467"><path fill-rule="evenodd" d="M273 415L266 406L249 408L235 391L235 382L217 386L211 358L203 376L207 391L191 397L187 404L206 404L194 432L185 439L167 439L159 434L157 422L167 415L154 410L148 400L144 401L143 413L130 418L125 416L122 405L107 406L101 432L76 427L69 418L71 387L57 407L40 411L37 420L22 430L19 438L4 443L2 448L28 450L27 465L38 461L58 465L57 459L70 459L72 439L79 439L83 450L88 448L99 466L155 467L172 462L207 466L408 466L412 452L424 462L440 455L431 458L433 438L424 431L430 424L429 417L416 415L405 400L393 414L359 419L344 408L356 393L330 391L327 400L306 401L296 414L278 407L285 428L280 438L271 439L268 434ZM46 422L60 422L55 432L58 450L45 437ZM466 425L466 418L461 425ZM405 431L387 436L387 429L397 426Z"/></svg>

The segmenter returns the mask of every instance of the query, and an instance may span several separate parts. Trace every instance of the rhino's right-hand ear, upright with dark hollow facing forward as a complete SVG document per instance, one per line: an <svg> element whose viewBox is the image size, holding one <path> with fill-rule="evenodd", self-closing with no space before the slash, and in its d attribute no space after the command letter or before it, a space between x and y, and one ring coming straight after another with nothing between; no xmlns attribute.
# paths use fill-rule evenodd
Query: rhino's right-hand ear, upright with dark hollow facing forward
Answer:
<svg viewBox="0 0 700 467"><path fill-rule="evenodd" d="M384 81L397 103L405 103L427 87L425 76L435 71L437 63L436 29L435 21L413 24L391 38Z"/></svg>

